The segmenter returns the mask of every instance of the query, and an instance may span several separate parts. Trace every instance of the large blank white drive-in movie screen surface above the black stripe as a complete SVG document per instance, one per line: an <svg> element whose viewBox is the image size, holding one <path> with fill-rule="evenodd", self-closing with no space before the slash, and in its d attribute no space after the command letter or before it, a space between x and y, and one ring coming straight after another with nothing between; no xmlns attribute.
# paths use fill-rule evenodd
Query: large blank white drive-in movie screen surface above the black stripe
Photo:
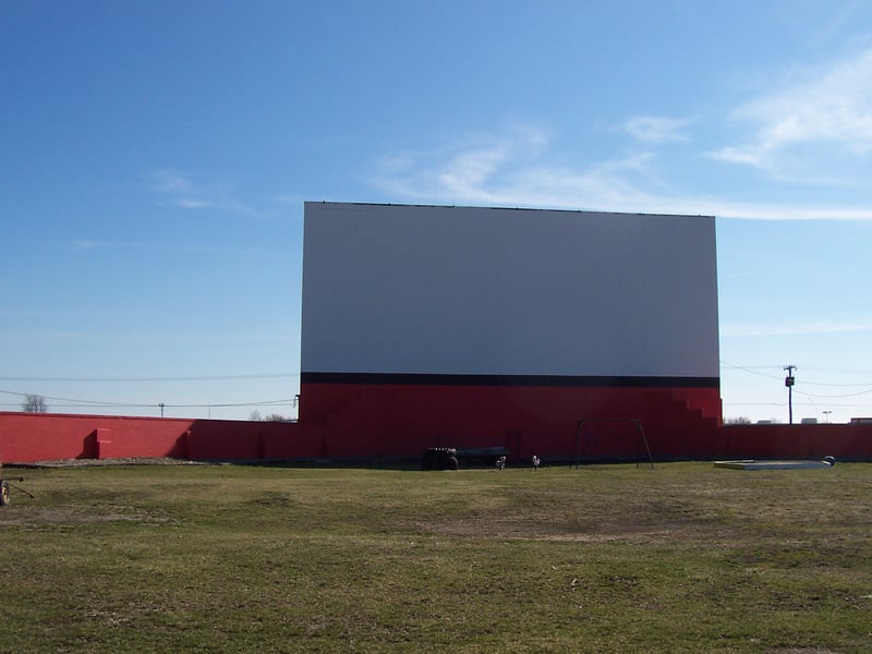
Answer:
<svg viewBox="0 0 872 654"><path fill-rule="evenodd" d="M712 217L306 203L303 373L717 377Z"/></svg>

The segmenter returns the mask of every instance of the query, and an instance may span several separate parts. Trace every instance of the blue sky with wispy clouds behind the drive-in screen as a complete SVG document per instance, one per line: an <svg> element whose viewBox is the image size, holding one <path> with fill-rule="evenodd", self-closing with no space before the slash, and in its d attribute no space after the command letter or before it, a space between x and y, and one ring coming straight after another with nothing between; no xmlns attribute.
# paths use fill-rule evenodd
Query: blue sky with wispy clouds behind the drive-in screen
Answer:
<svg viewBox="0 0 872 654"><path fill-rule="evenodd" d="M5 0L0 154L0 409L293 414L328 199L715 215L725 416L872 415L872 2Z"/></svg>

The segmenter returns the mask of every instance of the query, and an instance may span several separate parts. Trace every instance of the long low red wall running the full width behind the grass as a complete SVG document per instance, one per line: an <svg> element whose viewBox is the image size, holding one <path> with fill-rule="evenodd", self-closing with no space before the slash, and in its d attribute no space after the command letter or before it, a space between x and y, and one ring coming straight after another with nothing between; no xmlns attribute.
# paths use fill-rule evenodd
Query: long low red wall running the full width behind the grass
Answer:
<svg viewBox="0 0 872 654"><path fill-rule="evenodd" d="M652 429L652 455L655 459L834 456L841 461L872 461L870 424L718 427L707 426L710 423L714 425L713 421L692 421L676 424L673 429L668 425ZM564 460L572 460L577 453L582 460L626 460L642 452L634 433L620 432L618 427L625 432L629 428L620 425L597 427L593 437L585 431L581 443L574 425L565 425L559 434L540 433L535 425L525 425L529 428L522 432L488 434L487 425L481 425L475 439L452 432L448 424L443 426L439 445L499 445L511 450L510 459L524 459L533 452ZM413 459L422 447L437 445L432 438L395 431L376 438L374 429L354 431L350 424L337 426L329 421L303 424L0 412L0 461L152 457L204 461Z"/></svg>

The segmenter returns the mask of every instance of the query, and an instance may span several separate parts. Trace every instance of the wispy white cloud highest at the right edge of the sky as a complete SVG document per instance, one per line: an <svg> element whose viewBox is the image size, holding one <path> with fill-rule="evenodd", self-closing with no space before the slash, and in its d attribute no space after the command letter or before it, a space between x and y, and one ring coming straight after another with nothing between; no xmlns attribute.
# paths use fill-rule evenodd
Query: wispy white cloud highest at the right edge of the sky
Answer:
<svg viewBox="0 0 872 654"><path fill-rule="evenodd" d="M811 161L828 166L834 154L864 159L872 152L872 49L796 75L791 84L740 106L732 119L750 124L753 134L710 153L713 158L780 178L823 173L811 170Z"/></svg>

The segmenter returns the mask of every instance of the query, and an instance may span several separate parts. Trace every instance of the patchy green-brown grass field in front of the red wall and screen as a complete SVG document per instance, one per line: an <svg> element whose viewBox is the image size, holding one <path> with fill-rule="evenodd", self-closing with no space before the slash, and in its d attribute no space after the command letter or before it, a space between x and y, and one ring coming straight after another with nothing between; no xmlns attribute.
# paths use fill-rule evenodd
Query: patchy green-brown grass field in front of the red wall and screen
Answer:
<svg viewBox="0 0 872 654"><path fill-rule="evenodd" d="M868 464L15 474L0 652L872 646Z"/></svg>

